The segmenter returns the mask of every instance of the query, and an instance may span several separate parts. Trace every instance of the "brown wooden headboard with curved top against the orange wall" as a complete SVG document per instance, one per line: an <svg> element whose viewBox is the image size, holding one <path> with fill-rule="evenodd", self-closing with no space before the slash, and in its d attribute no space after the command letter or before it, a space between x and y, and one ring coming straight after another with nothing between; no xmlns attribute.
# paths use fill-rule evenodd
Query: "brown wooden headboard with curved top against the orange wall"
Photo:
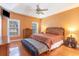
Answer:
<svg viewBox="0 0 79 59"><path fill-rule="evenodd" d="M62 27L48 27L46 29L46 33L49 33L49 34L64 35L65 34L64 32L65 30Z"/></svg>

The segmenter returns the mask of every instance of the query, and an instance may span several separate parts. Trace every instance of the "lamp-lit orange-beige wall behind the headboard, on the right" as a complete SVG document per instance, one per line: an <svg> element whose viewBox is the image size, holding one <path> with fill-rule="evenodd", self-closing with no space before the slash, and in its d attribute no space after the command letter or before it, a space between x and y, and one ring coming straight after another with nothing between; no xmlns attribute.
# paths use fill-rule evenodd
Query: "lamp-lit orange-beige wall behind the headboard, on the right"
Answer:
<svg viewBox="0 0 79 59"><path fill-rule="evenodd" d="M58 13L42 20L42 27L63 27L68 36L69 28L73 28L76 33L75 37L79 40L79 7L62 13Z"/></svg>

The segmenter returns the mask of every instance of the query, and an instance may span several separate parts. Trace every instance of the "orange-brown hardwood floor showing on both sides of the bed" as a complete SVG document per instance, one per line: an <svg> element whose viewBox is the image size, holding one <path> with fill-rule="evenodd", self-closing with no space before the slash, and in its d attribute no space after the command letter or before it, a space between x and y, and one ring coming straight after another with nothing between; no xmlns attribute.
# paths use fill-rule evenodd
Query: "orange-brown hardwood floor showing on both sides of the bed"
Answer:
<svg viewBox="0 0 79 59"><path fill-rule="evenodd" d="M31 52L25 49L20 41L10 43L9 47L19 47L21 56L31 56ZM79 56L79 49L73 49L62 45L50 52L41 54L40 56Z"/></svg>

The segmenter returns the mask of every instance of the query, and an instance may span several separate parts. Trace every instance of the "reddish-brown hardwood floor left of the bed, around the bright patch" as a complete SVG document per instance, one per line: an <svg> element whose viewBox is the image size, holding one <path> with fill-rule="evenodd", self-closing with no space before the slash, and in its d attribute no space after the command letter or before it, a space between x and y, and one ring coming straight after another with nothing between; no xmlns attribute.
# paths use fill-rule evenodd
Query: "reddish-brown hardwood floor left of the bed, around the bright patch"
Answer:
<svg viewBox="0 0 79 59"><path fill-rule="evenodd" d="M31 53L23 47L23 45L21 44L20 41L10 43L9 47L10 48L19 47L19 50L20 50L19 53L21 56L30 56L31 55Z"/></svg>

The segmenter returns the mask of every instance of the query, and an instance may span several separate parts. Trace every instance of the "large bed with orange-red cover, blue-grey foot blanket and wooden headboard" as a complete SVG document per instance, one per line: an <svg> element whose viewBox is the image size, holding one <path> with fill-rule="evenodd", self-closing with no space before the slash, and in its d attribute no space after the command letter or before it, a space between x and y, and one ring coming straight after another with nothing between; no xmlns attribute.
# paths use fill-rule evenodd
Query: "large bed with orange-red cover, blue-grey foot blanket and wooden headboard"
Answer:
<svg viewBox="0 0 79 59"><path fill-rule="evenodd" d="M34 34L30 38L22 40L25 48L31 51L32 55L40 55L51 51L63 44L64 29L61 27L49 27L46 33Z"/></svg>

